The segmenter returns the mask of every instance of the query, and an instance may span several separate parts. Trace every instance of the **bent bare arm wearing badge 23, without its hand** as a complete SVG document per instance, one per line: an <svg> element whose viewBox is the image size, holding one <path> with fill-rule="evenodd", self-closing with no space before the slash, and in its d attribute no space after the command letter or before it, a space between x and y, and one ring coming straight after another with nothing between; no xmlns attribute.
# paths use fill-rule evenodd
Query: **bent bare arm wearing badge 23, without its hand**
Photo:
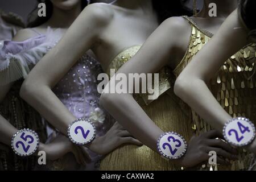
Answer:
<svg viewBox="0 0 256 182"><path fill-rule="evenodd" d="M177 43L179 41L177 38L180 38L179 34L184 32L184 34L187 33L185 35L188 35L187 40L179 39L180 42L185 42L185 45L187 45L189 40L189 25L185 22L184 27L183 24L180 24L180 21L183 22L184 19L176 17L163 22L147 39L138 53L123 65L117 74L124 73L128 79L129 73L155 73L164 65L167 65L170 57L175 55L175 50L178 48ZM105 109L135 138L156 151L156 142L163 131L148 117L133 96L130 94L104 93L100 101Z"/></svg>

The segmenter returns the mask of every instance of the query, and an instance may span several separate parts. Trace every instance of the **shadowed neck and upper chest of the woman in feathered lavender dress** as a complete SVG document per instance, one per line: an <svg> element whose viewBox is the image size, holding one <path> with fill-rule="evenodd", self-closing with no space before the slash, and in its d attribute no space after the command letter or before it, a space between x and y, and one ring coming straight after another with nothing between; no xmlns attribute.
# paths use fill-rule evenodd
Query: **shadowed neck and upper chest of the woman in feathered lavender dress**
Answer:
<svg viewBox="0 0 256 182"><path fill-rule="evenodd" d="M81 13L81 3L70 10L61 10L53 6L51 18L46 22L46 26L68 28Z"/></svg>

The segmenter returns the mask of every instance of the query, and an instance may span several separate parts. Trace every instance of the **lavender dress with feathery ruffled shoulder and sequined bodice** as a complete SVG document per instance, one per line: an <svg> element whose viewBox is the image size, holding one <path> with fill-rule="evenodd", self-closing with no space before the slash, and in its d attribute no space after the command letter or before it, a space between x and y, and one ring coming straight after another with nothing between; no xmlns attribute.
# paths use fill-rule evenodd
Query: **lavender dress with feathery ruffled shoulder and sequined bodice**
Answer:
<svg viewBox="0 0 256 182"><path fill-rule="evenodd" d="M61 35L63 34L60 30L53 31L48 28L46 35L39 34L24 42L3 42L0 51L0 85L9 84L26 77L32 67L56 45ZM113 125L114 119L99 106L100 94L97 92L97 76L100 73L102 73L100 64L85 54L55 86L53 92L75 117L91 119L96 126L97 135L104 135ZM16 93L19 93L19 89L20 86L15 89ZM19 100L22 101L20 97ZM26 103L24 102L24 104ZM1 110L8 109L9 105L3 105L1 108ZM10 115L12 113L26 114L22 109L16 109L15 112L10 111L9 113ZM57 131L48 127L48 142L53 139L56 133ZM99 165L97 164L99 164L102 156L89 150L88 152L92 162L86 167L77 164L73 154L67 154L62 159L48 162L47 166L38 166L36 169L98 169Z"/></svg>

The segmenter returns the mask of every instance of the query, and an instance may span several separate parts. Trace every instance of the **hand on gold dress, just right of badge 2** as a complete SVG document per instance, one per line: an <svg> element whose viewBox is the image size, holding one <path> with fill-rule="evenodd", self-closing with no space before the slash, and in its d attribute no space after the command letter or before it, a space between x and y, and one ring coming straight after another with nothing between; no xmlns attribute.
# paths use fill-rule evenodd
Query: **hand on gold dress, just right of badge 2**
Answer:
<svg viewBox="0 0 256 182"><path fill-rule="evenodd" d="M118 122L115 122L111 129L103 137L98 137L89 144L90 150L100 155L108 154L124 143L131 143L141 146L139 140L133 138Z"/></svg>

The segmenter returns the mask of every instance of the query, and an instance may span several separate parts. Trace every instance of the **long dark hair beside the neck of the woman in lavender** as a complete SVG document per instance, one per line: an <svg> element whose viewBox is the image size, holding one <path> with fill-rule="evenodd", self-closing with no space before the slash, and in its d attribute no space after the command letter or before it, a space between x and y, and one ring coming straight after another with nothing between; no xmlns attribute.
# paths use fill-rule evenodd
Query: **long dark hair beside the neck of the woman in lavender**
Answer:
<svg viewBox="0 0 256 182"><path fill-rule="evenodd" d="M53 13L53 4L50 0L37 0L38 3L36 3L36 7L34 10L32 10L32 12L28 15L28 23L27 23L27 27L37 27L40 26L43 23L46 23L51 17L52 17L52 13ZM39 17L38 16L38 4L39 3L45 3L46 4L46 16L43 17ZM81 6L82 9L85 8L85 6L87 6L87 1L82 0L81 1Z"/></svg>

